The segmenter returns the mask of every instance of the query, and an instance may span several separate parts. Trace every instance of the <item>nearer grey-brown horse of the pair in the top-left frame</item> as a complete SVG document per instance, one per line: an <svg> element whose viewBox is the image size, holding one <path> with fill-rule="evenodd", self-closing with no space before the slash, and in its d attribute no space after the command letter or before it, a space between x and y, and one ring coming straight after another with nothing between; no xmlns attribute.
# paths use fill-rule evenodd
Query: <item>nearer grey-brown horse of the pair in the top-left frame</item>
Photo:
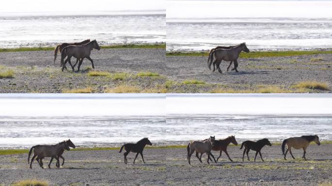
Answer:
<svg viewBox="0 0 332 186"><path fill-rule="evenodd" d="M64 71L64 69L65 69L66 62L69 62L69 64L71 65L71 63L70 63L71 57L75 57L75 58L79 59L79 61L80 61L77 72L80 71L80 67L81 67L81 64L82 64L84 58L90 60L90 62L92 64L92 68L94 69L95 66L93 64L92 59L90 58L91 50L93 48L100 50L100 47L96 40L90 41L89 43L84 44L82 46L69 45L68 47L65 47L61 51L62 71ZM66 56L67 56L67 59L64 62L64 59ZM71 65L71 68L74 70L74 67L72 65Z"/></svg>

